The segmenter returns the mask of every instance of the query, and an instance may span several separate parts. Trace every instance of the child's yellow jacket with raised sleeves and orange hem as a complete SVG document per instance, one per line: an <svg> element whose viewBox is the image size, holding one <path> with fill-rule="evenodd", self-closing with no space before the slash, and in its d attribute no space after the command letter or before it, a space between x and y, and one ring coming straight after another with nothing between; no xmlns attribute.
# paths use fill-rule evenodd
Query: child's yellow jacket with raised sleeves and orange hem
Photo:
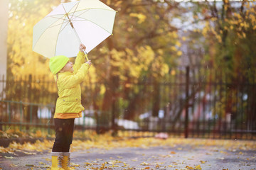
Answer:
<svg viewBox="0 0 256 170"><path fill-rule="evenodd" d="M81 104L80 83L85 80L90 65L85 63L85 54L78 52L73 65L74 72L60 72L54 76L58 86L54 118L80 118L85 108ZM58 77L58 79L57 79Z"/></svg>

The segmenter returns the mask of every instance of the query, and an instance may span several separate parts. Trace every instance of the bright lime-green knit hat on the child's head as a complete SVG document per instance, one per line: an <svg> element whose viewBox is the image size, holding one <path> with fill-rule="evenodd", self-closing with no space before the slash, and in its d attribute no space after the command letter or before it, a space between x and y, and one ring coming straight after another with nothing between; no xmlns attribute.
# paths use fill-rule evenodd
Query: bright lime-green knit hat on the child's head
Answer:
<svg viewBox="0 0 256 170"><path fill-rule="evenodd" d="M58 55L55 57L51 57L50 58L50 72L52 72L53 74L56 74L58 72L60 72L60 69L62 69L65 64L67 64L67 62L69 61L69 58L66 57L65 55Z"/></svg>

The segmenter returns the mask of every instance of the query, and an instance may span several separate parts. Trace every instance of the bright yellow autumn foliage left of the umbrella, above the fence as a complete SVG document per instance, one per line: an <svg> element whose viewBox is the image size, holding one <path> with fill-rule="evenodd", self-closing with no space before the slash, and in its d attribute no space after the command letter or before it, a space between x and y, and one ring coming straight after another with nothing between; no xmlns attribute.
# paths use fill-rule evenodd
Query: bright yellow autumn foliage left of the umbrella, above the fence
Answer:
<svg viewBox="0 0 256 170"><path fill-rule="evenodd" d="M35 4L38 2L34 1ZM23 8L22 2L16 5ZM50 75L50 69L48 69L48 60L32 51L33 26L51 10L46 6L45 8L40 7L38 6L37 13L33 14L31 11L25 10L9 11L7 43L9 60L12 62L8 67L11 68L12 74L16 77L28 74L39 76L48 74L49 79L53 78Z"/></svg>

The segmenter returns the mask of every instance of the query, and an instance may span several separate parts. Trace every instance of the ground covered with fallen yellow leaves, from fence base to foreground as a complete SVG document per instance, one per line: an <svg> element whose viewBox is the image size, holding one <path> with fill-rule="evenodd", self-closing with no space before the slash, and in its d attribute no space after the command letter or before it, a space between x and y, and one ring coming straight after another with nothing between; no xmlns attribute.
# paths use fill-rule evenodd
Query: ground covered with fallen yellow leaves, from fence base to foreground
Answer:
<svg viewBox="0 0 256 170"><path fill-rule="evenodd" d="M71 157L71 162L75 162L71 163L74 169L203 169L206 166L214 169L216 162L228 162L231 156L238 159L238 169L245 166L255 169L251 167L256 165L255 141L178 137L169 137L166 140L155 137L134 139L112 137L108 133L96 135L93 132L86 135L75 133L75 136L86 136L87 140L75 138L70 152L87 156L85 159L75 160ZM37 132L34 137L42 135ZM1 164L24 155L41 155L42 158L42 161L26 164L26 169L48 169L52 147L53 140L46 140L46 137L33 144L12 142L9 147L0 147L0 169L3 169ZM206 157L214 157L215 162ZM15 162L9 164L10 168L17 166Z"/></svg>

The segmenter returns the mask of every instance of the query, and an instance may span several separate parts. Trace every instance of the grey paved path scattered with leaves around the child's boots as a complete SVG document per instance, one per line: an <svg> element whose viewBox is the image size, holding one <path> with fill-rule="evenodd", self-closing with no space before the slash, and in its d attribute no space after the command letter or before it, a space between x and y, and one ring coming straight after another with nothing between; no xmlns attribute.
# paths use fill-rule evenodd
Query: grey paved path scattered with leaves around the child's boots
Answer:
<svg viewBox="0 0 256 170"><path fill-rule="evenodd" d="M200 143L200 140L198 140ZM246 141L245 141L246 142ZM89 148L71 153L76 169L256 169L256 150L220 145ZM47 169L50 153L0 158L1 169ZM6 158L7 157L7 158Z"/></svg>

